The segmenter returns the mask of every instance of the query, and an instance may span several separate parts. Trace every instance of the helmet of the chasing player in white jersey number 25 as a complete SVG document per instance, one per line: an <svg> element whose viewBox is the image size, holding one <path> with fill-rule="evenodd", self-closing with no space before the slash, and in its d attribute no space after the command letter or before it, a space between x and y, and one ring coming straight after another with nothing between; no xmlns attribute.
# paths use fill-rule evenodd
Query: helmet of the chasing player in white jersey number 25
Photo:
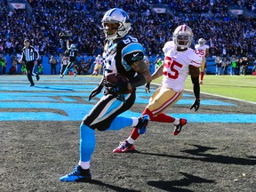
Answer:
<svg viewBox="0 0 256 192"><path fill-rule="evenodd" d="M180 49L188 49L192 44L193 36L192 29L183 24L174 30L173 41Z"/></svg>

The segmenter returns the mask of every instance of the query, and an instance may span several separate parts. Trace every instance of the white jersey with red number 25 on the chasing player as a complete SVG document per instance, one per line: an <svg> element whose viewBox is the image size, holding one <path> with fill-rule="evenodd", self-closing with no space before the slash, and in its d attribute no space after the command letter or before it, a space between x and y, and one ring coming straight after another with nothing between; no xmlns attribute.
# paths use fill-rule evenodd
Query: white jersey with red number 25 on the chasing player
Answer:
<svg viewBox="0 0 256 192"><path fill-rule="evenodd" d="M181 92L189 73L189 65L199 68L202 63L202 56L195 50L188 48L183 52L178 52L174 42L164 44L164 87L171 88L174 92Z"/></svg>

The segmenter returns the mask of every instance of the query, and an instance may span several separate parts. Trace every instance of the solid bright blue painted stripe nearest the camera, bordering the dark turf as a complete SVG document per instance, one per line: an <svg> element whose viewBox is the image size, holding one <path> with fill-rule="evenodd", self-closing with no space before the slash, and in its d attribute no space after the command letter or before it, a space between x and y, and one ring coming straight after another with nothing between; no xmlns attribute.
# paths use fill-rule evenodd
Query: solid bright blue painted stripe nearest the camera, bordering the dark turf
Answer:
<svg viewBox="0 0 256 192"><path fill-rule="evenodd" d="M68 116L52 112L0 112L0 121L82 121L90 112L90 108L82 111L73 110ZM189 123L223 123L223 124L255 124L256 115L252 114L169 114L175 117L186 118ZM120 116L139 117L140 113L126 111ZM154 126L154 123L150 123Z"/></svg>

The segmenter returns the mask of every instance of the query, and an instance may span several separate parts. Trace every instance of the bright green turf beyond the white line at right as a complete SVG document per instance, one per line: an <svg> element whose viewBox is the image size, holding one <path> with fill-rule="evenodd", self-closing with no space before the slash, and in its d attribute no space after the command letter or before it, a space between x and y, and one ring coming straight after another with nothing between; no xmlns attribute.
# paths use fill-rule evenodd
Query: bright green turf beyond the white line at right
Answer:
<svg viewBox="0 0 256 192"><path fill-rule="evenodd" d="M154 82L161 83L162 78ZM188 76L185 89L192 90ZM201 92L256 102L256 76L204 76Z"/></svg>

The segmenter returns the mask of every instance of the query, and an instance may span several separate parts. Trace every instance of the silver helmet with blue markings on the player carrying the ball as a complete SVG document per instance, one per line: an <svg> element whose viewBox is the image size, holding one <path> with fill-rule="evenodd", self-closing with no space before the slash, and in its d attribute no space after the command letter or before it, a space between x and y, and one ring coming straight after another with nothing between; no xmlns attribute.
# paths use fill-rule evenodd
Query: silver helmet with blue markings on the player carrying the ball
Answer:
<svg viewBox="0 0 256 192"><path fill-rule="evenodd" d="M125 36L129 30L131 29L131 21L129 15L124 12L122 9L114 8L108 10L103 16L101 20L102 29L104 30L105 36L108 40L115 40L116 38L120 38ZM114 35L108 35L108 27L106 23L117 23L119 27L116 30Z"/></svg>

